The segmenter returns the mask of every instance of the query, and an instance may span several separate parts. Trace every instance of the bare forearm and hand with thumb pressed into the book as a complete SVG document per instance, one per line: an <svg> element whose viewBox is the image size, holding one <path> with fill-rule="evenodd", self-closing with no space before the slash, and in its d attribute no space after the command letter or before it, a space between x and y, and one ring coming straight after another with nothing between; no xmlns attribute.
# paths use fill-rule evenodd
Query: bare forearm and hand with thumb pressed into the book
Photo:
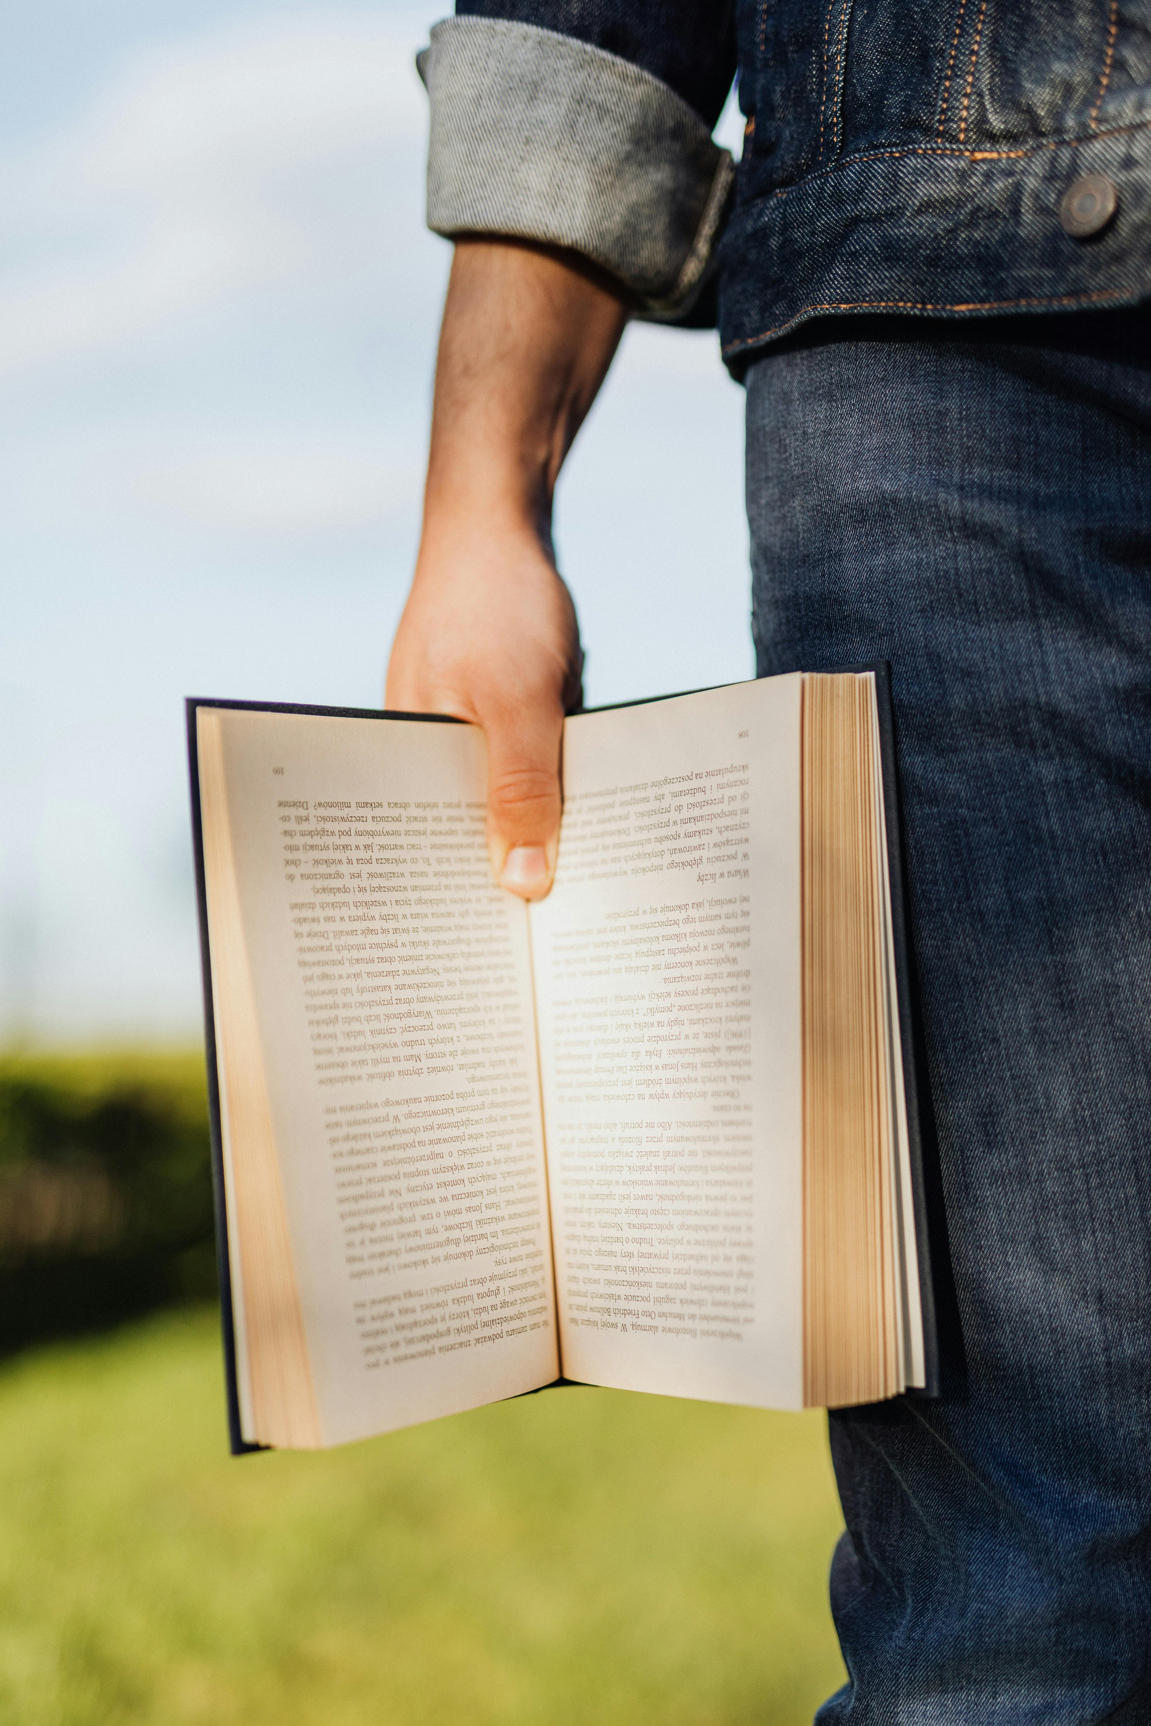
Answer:
<svg viewBox="0 0 1151 1726"><path fill-rule="evenodd" d="M556 868L559 744L582 670L552 494L625 321L623 300L582 266L516 243L457 245L387 702L483 727L492 870L530 899Z"/></svg>

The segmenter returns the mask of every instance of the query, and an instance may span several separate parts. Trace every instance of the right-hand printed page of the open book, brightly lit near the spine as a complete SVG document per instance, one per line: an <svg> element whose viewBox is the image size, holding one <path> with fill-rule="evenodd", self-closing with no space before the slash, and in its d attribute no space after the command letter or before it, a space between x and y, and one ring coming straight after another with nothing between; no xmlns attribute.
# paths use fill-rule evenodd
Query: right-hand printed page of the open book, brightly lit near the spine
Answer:
<svg viewBox="0 0 1151 1726"><path fill-rule="evenodd" d="M564 730L531 906L568 1377L802 1403L801 677Z"/></svg>

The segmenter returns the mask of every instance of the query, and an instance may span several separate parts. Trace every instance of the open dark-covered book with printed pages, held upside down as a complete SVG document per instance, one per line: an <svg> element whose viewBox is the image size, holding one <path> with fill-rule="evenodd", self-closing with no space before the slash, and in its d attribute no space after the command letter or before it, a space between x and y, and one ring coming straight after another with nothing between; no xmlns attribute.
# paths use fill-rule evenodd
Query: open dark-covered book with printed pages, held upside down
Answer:
<svg viewBox="0 0 1151 1726"><path fill-rule="evenodd" d="M531 906L475 727L188 735L233 1448L932 1389L884 666L568 720Z"/></svg>

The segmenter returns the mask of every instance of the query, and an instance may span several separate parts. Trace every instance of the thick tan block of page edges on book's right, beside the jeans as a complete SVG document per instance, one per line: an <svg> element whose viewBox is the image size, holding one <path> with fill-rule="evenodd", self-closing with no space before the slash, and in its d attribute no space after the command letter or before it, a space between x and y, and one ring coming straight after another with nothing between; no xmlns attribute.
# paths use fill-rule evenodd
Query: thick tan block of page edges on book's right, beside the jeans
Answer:
<svg viewBox="0 0 1151 1726"><path fill-rule="evenodd" d="M802 690L804 1402L899 1395L887 901L875 685Z"/></svg>

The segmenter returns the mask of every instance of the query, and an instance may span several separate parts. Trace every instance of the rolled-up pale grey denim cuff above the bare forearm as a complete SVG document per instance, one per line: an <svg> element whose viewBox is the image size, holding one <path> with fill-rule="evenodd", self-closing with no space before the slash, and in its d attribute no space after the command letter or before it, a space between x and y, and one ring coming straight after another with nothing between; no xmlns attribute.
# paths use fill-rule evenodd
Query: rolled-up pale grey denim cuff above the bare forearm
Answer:
<svg viewBox="0 0 1151 1726"><path fill-rule="evenodd" d="M647 318L689 311L732 157L659 78L535 24L450 17L418 59L431 102L428 226L568 247Z"/></svg>

